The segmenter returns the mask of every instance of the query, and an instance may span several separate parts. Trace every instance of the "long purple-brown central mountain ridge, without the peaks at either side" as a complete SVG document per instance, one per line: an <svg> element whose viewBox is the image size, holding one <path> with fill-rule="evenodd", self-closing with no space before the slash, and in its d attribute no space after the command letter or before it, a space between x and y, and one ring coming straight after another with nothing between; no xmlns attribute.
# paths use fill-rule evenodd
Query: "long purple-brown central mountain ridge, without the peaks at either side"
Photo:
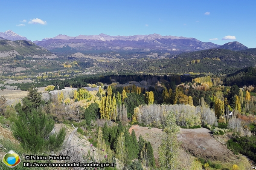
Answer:
<svg viewBox="0 0 256 170"><path fill-rule="evenodd" d="M34 41L49 50L67 48L68 46L78 51L166 51L169 53L180 53L185 51L198 51L209 48L217 48L219 45L212 42L201 42L195 38L161 36L159 34L134 35L134 36L109 36L99 35L79 35L69 37L58 35L51 39Z"/></svg>

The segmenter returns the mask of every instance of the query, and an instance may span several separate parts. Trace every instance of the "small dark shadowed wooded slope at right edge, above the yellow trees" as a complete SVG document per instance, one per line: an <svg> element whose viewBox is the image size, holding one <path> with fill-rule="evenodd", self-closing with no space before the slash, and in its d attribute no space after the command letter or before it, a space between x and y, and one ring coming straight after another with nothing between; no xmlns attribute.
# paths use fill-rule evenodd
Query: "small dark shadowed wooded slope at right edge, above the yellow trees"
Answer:
<svg viewBox="0 0 256 170"><path fill-rule="evenodd" d="M256 85L256 68L247 67L236 71L224 79L224 84L230 86L236 84L239 87Z"/></svg>

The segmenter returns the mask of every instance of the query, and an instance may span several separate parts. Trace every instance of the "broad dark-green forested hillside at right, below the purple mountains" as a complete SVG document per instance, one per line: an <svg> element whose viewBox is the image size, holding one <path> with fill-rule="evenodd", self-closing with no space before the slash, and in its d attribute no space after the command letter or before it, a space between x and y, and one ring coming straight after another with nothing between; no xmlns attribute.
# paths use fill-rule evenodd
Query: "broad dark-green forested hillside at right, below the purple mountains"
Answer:
<svg viewBox="0 0 256 170"><path fill-rule="evenodd" d="M226 49L186 52L164 59L126 59L99 62L106 71L143 73L214 73L231 74L256 66L256 57Z"/></svg>

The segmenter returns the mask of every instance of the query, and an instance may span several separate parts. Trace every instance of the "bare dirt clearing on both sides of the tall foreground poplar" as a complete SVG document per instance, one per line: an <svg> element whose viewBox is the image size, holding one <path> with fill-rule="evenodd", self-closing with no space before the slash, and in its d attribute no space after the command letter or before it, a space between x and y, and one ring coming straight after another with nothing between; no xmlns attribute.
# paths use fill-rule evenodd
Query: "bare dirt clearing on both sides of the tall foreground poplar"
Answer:
<svg viewBox="0 0 256 170"><path fill-rule="evenodd" d="M158 158L157 151L161 144L163 131L157 128L148 129L148 127L140 127L133 125L130 127L129 132L134 129L137 136L142 135L143 139L151 143L155 158ZM218 160L218 161L230 161L230 159L236 159L233 152L227 149L224 144L217 141L211 131L206 128L198 129L180 129L180 133L177 135L178 140L182 142L181 147L192 156L197 158ZM189 164L189 163L188 163Z"/></svg>

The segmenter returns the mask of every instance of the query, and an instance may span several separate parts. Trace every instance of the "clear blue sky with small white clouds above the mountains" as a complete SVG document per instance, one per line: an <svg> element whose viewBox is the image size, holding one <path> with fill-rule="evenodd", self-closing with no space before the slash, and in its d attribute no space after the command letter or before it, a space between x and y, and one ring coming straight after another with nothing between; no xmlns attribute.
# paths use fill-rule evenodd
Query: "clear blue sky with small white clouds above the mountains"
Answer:
<svg viewBox="0 0 256 170"><path fill-rule="evenodd" d="M256 0L1 0L0 32L32 41L156 33L256 48L255 7Z"/></svg>

